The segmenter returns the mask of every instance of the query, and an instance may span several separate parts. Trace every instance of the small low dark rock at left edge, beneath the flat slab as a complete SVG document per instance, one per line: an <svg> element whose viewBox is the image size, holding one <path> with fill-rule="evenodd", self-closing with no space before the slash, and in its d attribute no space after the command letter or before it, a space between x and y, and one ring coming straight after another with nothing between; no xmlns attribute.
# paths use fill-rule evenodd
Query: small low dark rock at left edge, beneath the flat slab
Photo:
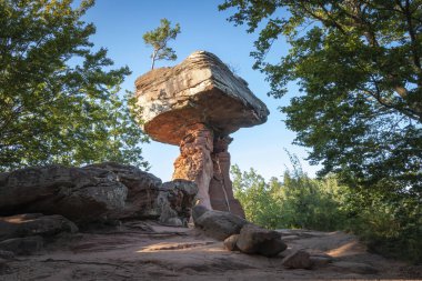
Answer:
<svg viewBox="0 0 422 281"><path fill-rule="evenodd" d="M14 254L32 254L43 248L42 237L12 238L0 242L0 250Z"/></svg>

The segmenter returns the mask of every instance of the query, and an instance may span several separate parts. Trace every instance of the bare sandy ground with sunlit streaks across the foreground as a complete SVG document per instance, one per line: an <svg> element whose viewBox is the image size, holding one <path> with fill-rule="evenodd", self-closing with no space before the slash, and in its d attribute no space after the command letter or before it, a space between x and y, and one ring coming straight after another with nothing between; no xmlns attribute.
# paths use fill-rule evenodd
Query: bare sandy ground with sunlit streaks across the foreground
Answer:
<svg viewBox="0 0 422 281"><path fill-rule="evenodd" d="M127 222L113 230L62 237L36 255L18 257L0 280L422 280L421 267L371 254L351 234L280 230L289 249L277 258L229 252L194 229ZM332 262L284 269L283 255L305 249Z"/></svg>

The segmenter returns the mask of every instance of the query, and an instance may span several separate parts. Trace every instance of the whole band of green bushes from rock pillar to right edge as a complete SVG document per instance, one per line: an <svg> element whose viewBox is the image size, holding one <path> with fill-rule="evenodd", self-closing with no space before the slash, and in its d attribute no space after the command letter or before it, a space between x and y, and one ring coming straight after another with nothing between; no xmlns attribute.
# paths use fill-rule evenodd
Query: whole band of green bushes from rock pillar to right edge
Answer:
<svg viewBox="0 0 422 281"><path fill-rule="evenodd" d="M291 159L293 170L282 182L232 167L234 195L248 220L270 229L352 231L374 252L422 262L422 207L415 197L339 185L332 174L310 179Z"/></svg>

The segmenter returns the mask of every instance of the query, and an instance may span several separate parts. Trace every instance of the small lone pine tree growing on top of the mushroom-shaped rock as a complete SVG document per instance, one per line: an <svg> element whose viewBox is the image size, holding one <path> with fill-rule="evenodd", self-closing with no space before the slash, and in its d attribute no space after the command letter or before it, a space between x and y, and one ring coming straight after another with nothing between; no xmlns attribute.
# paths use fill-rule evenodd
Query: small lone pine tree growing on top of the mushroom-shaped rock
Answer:
<svg viewBox="0 0 422 281"><path fill-rule="evenodd" d="M168 42L180 33L179 23L174 28L171 28L171 22L168 19L161 19L160 27L143 34L143 41L145 44L150 44L153 48L151 59L151 69L154 68L157 60L175 60L178 56L173 49L168 47Z"/></svg>

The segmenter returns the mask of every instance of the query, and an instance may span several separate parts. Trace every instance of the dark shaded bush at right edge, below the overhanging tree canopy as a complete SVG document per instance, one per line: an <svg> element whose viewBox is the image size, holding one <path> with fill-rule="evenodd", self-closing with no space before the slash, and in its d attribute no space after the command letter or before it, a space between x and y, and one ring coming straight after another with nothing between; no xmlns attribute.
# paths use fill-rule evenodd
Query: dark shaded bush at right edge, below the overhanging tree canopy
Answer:
<svg viewBox="0 0 422 281"><path fill-rule="evenodd" d="M385 257L422 262L422 207L409 193L385 194L368 189L349 189L344 209L348 228L370 250Z"/></svg>

